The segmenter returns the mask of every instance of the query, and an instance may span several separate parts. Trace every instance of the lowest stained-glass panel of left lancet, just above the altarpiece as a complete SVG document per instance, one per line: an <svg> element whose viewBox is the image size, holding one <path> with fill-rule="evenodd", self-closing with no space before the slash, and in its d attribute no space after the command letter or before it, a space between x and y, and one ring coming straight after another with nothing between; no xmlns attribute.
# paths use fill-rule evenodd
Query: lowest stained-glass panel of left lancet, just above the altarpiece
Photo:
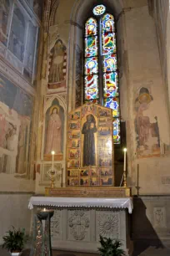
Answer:
<svg viewBox="0 0 170 256"><path fill-rule="evenodd" d="M85 77L84 88L85 100L95 100L98 98L98 76L97 74L87 75Z"/></svg>

